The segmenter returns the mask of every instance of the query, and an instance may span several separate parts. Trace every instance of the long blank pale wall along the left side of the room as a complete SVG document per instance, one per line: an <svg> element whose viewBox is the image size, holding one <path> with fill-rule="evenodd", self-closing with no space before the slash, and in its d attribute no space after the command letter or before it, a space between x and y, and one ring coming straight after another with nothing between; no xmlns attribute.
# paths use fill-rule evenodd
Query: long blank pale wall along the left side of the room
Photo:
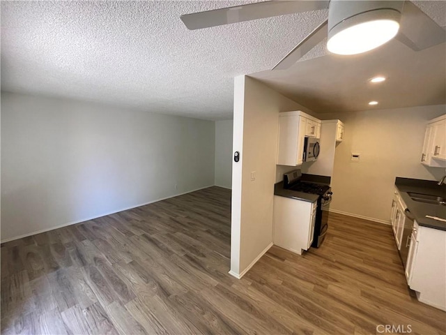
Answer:
<svg viewBox="0 0 446 335"><path fill-rule="evenodd" d="M2 93L1 239L212 186L214 152L213 121Z"/></svg>

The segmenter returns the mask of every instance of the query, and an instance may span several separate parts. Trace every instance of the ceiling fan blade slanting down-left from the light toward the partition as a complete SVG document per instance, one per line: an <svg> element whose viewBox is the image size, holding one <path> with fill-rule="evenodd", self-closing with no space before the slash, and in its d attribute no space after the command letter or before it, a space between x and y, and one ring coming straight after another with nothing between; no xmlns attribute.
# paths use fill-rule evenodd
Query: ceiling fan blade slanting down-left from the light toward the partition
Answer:
<svg viewBox="0 0 446 335"><path fill-rule="evenodd" d="M325 20L318 25L306 38L304 38L293 50L287 54L282 61L279 61L271 70L285 70L289 68L296 61L304 56L309 50L321 43L328 34L328 20Z"/></svg>

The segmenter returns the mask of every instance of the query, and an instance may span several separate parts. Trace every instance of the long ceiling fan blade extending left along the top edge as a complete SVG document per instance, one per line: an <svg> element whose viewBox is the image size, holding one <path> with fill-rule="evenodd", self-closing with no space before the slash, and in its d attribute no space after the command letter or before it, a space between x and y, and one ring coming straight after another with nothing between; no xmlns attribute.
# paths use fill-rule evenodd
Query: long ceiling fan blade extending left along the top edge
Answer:
<svg viewBox="0 0 446 335"><path fill-rule="evenodd" d="M265 17L294 14L328 8L329 1L265 1L247 5L181 15L187 29L202 29Z"/></svg>

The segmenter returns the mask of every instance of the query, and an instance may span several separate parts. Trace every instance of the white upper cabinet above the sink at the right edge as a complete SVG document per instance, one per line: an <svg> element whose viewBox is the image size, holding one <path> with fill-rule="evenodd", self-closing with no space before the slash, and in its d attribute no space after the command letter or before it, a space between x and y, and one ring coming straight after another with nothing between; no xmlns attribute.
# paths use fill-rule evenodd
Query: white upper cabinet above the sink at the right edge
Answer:
<svg viewBox="0 0 446 335"><path fill-rule="evenodd" d="M427 122L420 161L428 166L446 167L446 115Z"/></svg>

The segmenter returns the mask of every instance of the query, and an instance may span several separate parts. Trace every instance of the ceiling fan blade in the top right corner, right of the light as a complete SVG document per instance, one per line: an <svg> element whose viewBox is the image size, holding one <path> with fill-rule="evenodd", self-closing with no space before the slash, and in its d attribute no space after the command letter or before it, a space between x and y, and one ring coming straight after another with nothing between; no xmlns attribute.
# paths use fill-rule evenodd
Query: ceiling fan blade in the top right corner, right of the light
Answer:
<svg viewBox="0 0 446 335"><path fill-rule="evenodd" d="M397 40L415 51L446 41L446 31L412 2L406 1L401 13Z"/></svg>

